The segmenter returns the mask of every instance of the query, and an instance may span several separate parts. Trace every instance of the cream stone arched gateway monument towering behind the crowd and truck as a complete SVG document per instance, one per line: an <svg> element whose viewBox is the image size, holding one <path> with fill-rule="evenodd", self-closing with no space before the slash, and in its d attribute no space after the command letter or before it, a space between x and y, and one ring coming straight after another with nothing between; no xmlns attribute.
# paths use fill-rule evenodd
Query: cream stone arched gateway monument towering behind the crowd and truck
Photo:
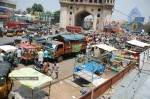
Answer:
<svg viewBox="0 0 150 99"><path fill-rule="evenodd" d="M60 0L60 28L83 26L84 18L93 16L93 30L109 22L115 0Z"/></svg>

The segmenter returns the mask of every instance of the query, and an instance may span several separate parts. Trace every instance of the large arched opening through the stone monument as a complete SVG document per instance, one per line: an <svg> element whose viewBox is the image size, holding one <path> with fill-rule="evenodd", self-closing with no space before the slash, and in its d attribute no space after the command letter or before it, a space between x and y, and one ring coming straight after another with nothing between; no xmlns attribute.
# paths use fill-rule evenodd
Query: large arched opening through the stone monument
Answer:
<svg viewBox="0 0 150 99"><path fill-rule="evenodd" d="M75 15L75 26L80 26L82 28L92 28L93 26L93 16L87 12L82 11Z"/></svg>

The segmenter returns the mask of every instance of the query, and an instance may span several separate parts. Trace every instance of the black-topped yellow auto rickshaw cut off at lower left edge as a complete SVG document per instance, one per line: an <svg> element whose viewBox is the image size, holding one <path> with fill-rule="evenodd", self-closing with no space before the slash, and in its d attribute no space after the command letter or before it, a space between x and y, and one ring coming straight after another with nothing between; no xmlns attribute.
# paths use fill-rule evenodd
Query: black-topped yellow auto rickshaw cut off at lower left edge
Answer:
<svg viewBox="0 0 150 99"><path fill-rule="evenodd" d="M10 63L0 62L0 98L5 99L12 87L12 80L8 77L11 72Z"/></svg>

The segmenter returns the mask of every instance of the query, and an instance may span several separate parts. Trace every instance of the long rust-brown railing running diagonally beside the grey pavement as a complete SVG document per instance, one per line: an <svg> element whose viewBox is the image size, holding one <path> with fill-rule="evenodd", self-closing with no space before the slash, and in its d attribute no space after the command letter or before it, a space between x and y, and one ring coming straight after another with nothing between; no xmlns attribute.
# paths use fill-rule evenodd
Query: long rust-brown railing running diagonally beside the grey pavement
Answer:
<svg viewBox="0 0 150 99"><path fill-rule="evenodd" d="M94 88L92 91L89 91L87 94L81 96L79 99L96 99L99 96L103 95L108 89L112 88L117 81L122 79L127 73L129 73L133 67L135 66L135 62L128 65L124 70L104 82L103 84L99 85L98 87Z"/></svg>

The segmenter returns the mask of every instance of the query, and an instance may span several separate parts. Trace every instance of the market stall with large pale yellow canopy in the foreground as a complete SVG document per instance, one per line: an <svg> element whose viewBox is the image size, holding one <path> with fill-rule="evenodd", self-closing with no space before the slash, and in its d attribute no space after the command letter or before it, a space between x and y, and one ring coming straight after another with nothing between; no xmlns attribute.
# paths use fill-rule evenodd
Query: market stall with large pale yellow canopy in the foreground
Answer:
<svg viewBox="0 0 150 99"><path fill-rule="evenodd" d="M53 80L51 77L48 77L32 68L22 68L20 70L14 70L9 74L13 80L21 83L30 88L30 90L25 91L23 88L19 91L16 90L15 93L19 94L21 99L39 99L41 94L37 93L39 87L45 83L49 84L49 96L50 96L50 86L51 81ZM46 97L42 96L40 99L45 99ZM18 99L16 96L15 99ZM19 98L20 99L20 98Z"/></svg>

